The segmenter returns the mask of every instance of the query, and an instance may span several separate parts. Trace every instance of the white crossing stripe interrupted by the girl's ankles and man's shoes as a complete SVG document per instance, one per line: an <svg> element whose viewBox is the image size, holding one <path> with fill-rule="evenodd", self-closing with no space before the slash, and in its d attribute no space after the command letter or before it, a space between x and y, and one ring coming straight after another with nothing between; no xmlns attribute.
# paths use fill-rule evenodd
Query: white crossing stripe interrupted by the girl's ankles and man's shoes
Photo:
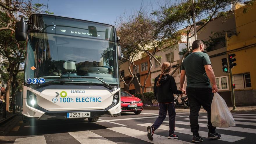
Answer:
<svg viewBox="0 0 256 144"><path fill-rule="evenodd" d="M153 125L151 123L145 123L145 124L138 124L144 127L147 127L149 125ZM169 126L166 125L161 125L158 129L163 129L163 130L167 130L169 131ZM189 135L193 135L192 132L190 131L190 129L184 129L184 128L179 128L179 127L175 127L175 132L178 133L182 133L182 134L189 134ZM208 132L206 131L199 131L200 136L207 138L208 137ZM228 142L235 142L235 141L239 141L241 139L244 139L244 137L240 137L240 136L231 136L231 135L225 135L225 134L221 134L222 138L219 139L221 141L228 141Z"/></svg>

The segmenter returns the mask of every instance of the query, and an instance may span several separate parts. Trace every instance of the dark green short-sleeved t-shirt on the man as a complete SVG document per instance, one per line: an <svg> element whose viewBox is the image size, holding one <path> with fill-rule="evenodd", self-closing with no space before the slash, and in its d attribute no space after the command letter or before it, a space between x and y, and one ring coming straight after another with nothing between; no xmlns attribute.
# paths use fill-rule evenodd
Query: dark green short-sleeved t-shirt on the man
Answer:
<svg viewBox="0 0 256 144"><path fill-rule="evenodd" d="M186 71L187 88L211 88L205 65L211 65L211 61L203 52L193 52L184 59L181 69Z"/></svg>

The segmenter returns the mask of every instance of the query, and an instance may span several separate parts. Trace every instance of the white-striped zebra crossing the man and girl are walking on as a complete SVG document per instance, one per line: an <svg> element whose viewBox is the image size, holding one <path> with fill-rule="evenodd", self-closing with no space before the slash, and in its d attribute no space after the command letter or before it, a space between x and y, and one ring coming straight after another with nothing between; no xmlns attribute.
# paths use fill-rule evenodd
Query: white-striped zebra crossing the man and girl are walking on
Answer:
<svg viewBox="0 0 256 144"><path fill-rule="evenodd" d="M147 138L146 127L152 125L157 118L156 113L143 113L147 116L135 117L135 118L122 118L103 120L100 119L94 122L93 125L102 125L103 129L96 130L84 130L84 131L70 131L66 132L65 136L69 135L74 139L72 144L119 144L119 143L154 143L154 144L191 144L192 133L190 131L190 122L188 113L178 113L175 121L175 134L179 135L178 139L168 139L169 126L168 121L164 121L163 124L155 131L154 141L150 141ZM249 143L255 142L253 139L256 136L256 114L241 114L232 113L235 121L235 127L229 128L217 128L217 132L222 135L219 140L207 141L207 116L199 116L199 134L204 138L203 143ZM168 120L168 117L166 118ZM91 125L87 123L86 125ZM45 126L44 126L45 127ZM24 125L22 129L29 130L35 127L29 127ZM103 131L103 132L99 132ZM109 135L114 136L110 137ZM48 135L36 135L29 137L15 138L14 144L49 144L58 143L58 141L49 140ZM121 140L126 138L127 140ZM56 138L58 139L58 138ZM130 139L130 141L128 141ZM1 140L0 140L1 142ZM69 143L67 141L67 143Z"/></svg>

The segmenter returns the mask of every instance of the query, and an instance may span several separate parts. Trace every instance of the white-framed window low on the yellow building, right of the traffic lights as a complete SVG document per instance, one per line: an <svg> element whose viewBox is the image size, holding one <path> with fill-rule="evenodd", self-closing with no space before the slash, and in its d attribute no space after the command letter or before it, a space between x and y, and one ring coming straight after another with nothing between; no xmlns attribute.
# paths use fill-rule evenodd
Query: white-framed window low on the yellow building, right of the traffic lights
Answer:
<svg viewBox="0 0 256 144"><path fill-rule="evenodd" d="M233 75L233 83L236 84L235 89L251 88L251 76L250 74L235 74Z"/></svg>

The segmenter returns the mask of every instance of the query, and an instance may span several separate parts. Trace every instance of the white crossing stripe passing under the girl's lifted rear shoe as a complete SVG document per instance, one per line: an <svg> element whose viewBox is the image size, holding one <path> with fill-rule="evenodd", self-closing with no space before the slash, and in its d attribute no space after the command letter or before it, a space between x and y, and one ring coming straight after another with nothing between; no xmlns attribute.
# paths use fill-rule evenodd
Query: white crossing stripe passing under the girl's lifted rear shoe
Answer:
<svg viewBox="0 0 256 144"><path fill-rule="evenodd" d="M136 129L131 129L131 128L128 128L128 127L111 127L111 128L107 128L107 129L110 129L112 131L115 131L115 132L118 132L118 133L121 133L121 134L125 134L127 136L138 138L138 139L143 140L143 141L154 143L154 144L169 144L169 143L191 144L189 142L181 141L181 140L177 140L177 139L170 140L165 136L160 136L160 135L157 135L157 134L154 134L154 141L150 141L147 138L147 132L139 131L139 130L136 130Z"/></svg>

